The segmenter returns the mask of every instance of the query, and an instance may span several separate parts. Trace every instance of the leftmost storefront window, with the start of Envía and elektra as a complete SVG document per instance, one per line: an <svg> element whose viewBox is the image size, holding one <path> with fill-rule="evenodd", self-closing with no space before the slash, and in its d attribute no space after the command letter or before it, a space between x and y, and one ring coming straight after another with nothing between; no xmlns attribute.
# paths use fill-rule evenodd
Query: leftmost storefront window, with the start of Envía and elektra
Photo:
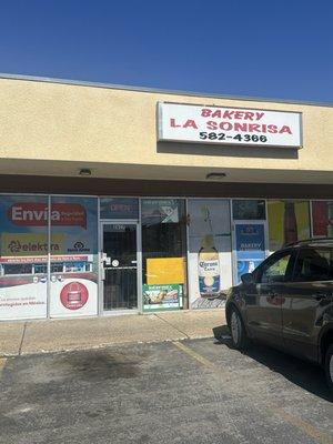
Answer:
<svg viewBox="0 0 333 444"><path fill-rule="evenodd" d="M0 319L47 316L48 196L0 195Z"/></svg>

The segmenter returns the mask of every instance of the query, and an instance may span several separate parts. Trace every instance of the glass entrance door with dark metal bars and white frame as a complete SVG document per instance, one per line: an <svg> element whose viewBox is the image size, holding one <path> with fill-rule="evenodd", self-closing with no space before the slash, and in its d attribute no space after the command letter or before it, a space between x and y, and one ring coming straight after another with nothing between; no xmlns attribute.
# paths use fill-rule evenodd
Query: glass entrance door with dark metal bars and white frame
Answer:
<svg viewBox="0 0 333 444"><path fill-rule="evenodd" d="M103 311L138 309L138 224L102 223Z"/></svg>

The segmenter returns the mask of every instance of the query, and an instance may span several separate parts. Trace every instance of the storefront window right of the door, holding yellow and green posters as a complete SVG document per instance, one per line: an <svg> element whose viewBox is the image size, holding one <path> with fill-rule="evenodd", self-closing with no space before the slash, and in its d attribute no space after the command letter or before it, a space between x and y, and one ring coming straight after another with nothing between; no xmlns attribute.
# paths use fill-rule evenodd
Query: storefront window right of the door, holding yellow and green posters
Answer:
<svg viewBox="0 0 333 444"><path fill-rule="evenodd" d="M185 202L142 200L143 310L183 307L185 285Z"/></svg>

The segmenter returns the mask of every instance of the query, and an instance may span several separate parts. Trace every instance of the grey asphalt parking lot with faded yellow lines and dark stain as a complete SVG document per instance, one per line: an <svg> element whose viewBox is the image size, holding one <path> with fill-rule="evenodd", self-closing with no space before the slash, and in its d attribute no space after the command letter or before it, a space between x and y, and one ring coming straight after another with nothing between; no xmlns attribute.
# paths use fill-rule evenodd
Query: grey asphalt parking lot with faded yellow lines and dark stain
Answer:
<svg viewBox="0 0 333 444"><path fill-rule="evenodd" d="M0 374L3 444L333 443L322 371L226 336L18 356Z"/></svg>

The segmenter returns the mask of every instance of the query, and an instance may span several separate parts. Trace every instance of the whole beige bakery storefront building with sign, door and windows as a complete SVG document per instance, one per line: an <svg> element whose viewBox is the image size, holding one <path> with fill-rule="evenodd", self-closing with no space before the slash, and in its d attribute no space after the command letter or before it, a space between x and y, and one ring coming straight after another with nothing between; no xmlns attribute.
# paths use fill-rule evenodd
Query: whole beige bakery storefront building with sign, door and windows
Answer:
<svg viewBox="0 0 333 444"><path fill-rule="evenodd" d="M333 108L0 78L0 320L219 309L333 236Z"/></svg>

